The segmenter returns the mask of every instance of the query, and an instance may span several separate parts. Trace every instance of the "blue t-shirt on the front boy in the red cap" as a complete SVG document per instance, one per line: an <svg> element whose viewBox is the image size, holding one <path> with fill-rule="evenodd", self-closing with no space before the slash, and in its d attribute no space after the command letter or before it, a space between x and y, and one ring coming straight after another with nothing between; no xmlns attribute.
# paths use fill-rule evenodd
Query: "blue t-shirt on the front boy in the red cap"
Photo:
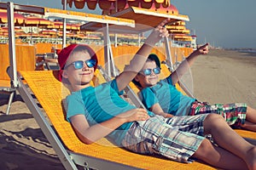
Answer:
<svg viewBox="0 0 256 170"><path fill-rule="evenodd" d="M105 122L122 112L135 109L134 105L130 105L119 97L121 94L123 94L123 91L119 92L115 79L96 88L88 87L73 92L66 99L67 121L70 122L69 118L71 116L83 114L89 125L93 126L96 123ZM120 146L131 124L132 122L124 123L108 134L107 138Z"/></svg>

